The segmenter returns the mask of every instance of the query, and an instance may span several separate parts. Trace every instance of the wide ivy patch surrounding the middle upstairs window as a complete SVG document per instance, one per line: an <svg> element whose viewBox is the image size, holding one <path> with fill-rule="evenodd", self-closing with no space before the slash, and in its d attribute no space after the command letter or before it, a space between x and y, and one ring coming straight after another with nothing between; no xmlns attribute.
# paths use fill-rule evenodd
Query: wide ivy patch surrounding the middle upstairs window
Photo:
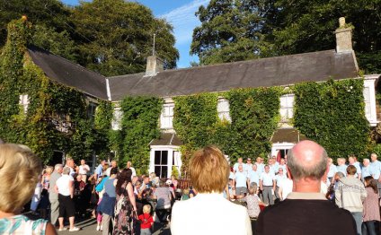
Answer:
<svg viewBox="0 0 381 235"><path fill-rule="evenodd" d="M182 172L193 152L217 145L231 161L267 155L279 121L279 88L238 89L221 93L230 103L232 123L217 117L217 93L174 98L173 126L182 139Z"/></svg>

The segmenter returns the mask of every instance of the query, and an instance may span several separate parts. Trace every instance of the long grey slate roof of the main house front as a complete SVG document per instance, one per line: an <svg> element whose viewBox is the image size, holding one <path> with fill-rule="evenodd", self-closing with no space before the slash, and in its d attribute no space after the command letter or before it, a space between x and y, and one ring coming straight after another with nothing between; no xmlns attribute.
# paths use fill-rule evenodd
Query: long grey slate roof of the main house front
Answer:
<svg viewBox="0 0 381 235"><path fill-rule="evenodd" d="M233 88L270 87L358 76L354 53L335 50L167 70L155 76L127 74L109 78L111 100L126 95L159 97Z"/></svg>

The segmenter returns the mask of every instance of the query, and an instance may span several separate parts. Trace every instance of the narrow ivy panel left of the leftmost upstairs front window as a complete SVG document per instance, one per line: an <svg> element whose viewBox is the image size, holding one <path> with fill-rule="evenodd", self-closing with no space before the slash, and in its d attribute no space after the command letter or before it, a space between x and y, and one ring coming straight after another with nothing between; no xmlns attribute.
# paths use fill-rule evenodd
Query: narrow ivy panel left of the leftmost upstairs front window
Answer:
<svg viewBox="0 0 381 235"><path fill-rule="evenodd" d="M126 97L121 102L122 130L113 134L114 140L121 141L120 165L131 161L139 172L146 173L149 166L149 143L160 136L158 120L163 100L156 97Z"/></svg>

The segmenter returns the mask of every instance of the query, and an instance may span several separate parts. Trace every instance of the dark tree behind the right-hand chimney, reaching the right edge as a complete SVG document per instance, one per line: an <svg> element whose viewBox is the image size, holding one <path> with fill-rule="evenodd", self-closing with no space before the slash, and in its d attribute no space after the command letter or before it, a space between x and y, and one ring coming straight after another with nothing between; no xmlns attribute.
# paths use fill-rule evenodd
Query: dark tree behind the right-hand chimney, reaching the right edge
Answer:
<svg viewBox="0 0 381 235"><path fill-rule="evenodd" d="M332 32L338 19L353 26L353 45L359 66L366 73L381 72L381 4L379 0L279 0L279 21L274 47L280 55L335 48Z"/></svg>

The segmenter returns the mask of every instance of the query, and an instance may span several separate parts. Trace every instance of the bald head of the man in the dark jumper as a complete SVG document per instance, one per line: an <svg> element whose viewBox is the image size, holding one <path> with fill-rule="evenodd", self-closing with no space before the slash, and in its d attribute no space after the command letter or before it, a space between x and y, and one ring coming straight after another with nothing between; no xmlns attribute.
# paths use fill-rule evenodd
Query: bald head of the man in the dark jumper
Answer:
<svg viewBox="0 0 381 235"><path fill-rule="evenodd" d="M301 141L288 151L288 170L295 180L321 180L327 170L327 152L313 141Z"/></svg>

